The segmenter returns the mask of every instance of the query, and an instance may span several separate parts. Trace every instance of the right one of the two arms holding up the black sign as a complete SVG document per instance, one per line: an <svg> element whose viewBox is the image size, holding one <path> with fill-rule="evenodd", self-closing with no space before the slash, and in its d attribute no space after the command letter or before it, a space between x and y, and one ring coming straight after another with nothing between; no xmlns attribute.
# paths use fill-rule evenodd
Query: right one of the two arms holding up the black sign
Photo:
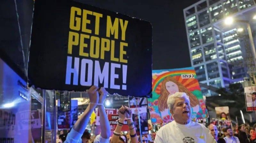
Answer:
<svg viewBox="0 0 256 143"><path fill-rule="evenodd" d="M99 97L99 123L100 123L100 129L101 129L101 137L108 139L111 135L111 130L110 130L110 124L108 121L108 116L106 114L105 108L103 106L104 100L106 99L108 92L105 90L105 88L101 88L99 90L99 93L101 94Z"/></svg>

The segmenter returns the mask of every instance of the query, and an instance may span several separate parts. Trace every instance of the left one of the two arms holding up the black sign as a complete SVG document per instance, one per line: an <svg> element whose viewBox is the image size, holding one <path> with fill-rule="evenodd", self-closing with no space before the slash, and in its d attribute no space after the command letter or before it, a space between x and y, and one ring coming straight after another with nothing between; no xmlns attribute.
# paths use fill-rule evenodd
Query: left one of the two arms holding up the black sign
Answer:
<svg viewBox="0 0 256 143"><path fill-rule="evenodd" d="M86 129L86 126L90 120L90 115L92 114L93 110L96 108L96 104L99 102L99 93L97 92L98 87L92 86L88 90L90 104L87 106L84 113L81 117L76 121L75 125L72 127L70 133L67 134L67 139L64 143L77 143L81 140L81 137Z"/></svg>

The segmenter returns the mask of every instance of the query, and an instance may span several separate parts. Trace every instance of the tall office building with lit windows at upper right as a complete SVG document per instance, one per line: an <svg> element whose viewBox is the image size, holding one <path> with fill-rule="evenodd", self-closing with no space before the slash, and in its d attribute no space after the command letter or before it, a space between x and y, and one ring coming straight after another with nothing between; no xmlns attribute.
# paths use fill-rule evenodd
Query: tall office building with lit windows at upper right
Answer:
<svg viewBox="0 0 256 143"><path fill-rule="evenodd" d="M241 66L245 55L238 29L221 26L226 17L254 8L253 0L201 0L183 10L191 64L199 82L221 88L247 76L246 67ZM205 96L216 95L201 90Z"/></svg>

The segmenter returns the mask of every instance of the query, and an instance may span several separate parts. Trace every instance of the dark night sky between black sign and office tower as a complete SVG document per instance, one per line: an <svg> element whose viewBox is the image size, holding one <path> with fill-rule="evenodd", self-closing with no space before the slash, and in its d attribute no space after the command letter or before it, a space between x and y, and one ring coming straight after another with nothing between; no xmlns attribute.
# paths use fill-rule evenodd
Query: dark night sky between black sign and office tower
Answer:
<svg viewBox="0 0 256 143"><path fill-rule="evenodd" d="M76 0L149 21L153 26L153 69L191 66L183 9L199 0Z"/></svg>

